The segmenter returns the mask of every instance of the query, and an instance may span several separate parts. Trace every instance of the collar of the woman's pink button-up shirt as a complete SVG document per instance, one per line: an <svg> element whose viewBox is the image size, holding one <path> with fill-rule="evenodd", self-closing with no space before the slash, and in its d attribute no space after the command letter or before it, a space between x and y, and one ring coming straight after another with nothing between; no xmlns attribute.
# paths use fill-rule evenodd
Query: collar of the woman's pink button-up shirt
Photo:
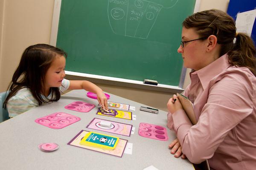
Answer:
<svg viewBox="0 0 256 170"><path fill-rule="evenodd" d="M204 68L201 68L198 71L192 71L190 77L192 75L197 75L203 89L205 89L213 77L221 74L221 72L229 68L230 65L228 55L224 54Z"/></svg>

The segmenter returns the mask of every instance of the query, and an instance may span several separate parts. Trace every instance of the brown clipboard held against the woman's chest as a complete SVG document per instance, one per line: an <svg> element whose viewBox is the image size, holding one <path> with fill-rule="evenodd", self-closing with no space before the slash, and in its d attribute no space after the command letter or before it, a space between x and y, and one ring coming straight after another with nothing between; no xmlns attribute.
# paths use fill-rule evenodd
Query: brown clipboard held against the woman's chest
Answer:
<svg viewBox="0 0 256 170"><path fill-rule="evenodd" d="M186 96L183 96L182 94L177 93L177 97L180 100L180 103L183 107L183 110L185 111L186 115L189 117L190 122L192 125L195 125L197 123L195 118L195 112L193 103L187 98ZM201 162L200 164L193 164L196 169L202 169L202 170L210 170L208 160Z"/></svg>

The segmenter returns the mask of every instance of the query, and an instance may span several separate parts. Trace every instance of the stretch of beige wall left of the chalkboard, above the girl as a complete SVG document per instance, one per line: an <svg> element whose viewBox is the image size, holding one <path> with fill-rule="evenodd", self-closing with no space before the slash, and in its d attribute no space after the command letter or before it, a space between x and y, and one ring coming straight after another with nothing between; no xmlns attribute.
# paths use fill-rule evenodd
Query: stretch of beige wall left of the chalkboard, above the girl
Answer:
<svg viewBox="0 0 256 170"><path fill-rule="evenodd" d="M54 0L1 0L0 91L7 85L26 47L49 43Z"/></svg>

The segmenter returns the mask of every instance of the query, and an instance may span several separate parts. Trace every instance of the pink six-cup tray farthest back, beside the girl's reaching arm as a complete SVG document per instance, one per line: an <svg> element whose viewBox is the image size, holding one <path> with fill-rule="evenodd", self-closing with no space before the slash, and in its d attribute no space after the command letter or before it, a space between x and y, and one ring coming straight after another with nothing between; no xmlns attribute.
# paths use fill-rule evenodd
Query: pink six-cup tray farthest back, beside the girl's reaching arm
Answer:
<svg viewBox="0 0 256 170"><path fill-rule="evenodd" d="M65 106L66 109L72 110L72 111L78 111L78 112L89 112L95 107L95 105L87 103L87 102L81 102L76 101L73 103L70 103L69 105Z"/></svg>

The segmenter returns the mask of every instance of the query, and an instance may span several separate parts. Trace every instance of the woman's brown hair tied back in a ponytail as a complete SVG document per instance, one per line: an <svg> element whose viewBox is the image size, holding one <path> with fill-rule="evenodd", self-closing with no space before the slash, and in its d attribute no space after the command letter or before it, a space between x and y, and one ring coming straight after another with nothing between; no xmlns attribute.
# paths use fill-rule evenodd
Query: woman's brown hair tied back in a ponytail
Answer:
<svg viewBox="0 0 256 170"><path fill-rule="evenodd" d="M215 35L217 43L221 44L219 56L227 53L232 65L247 67L256 76L256 49L253 40L247 34L236 34L235 24L232 17L217 9L192 14L183 21L185 28L195 28L201 37Z"/></svg>

